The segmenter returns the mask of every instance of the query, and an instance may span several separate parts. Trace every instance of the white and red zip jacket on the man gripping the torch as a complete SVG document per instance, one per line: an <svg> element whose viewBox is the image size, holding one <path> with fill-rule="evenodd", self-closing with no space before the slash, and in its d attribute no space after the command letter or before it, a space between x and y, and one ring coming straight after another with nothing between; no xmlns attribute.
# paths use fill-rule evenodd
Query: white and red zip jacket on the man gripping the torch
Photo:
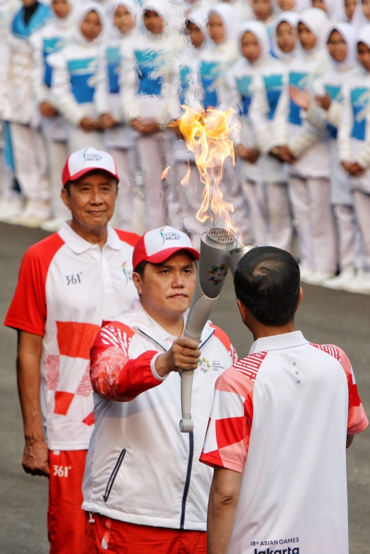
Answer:
<svg viewBox="0 0 370 554"><path fill-rule="evenodd" d="M175 339L138 301L103 322L91 350L96 426L82 507L138 525L206 531L212 470L198 459L214 384L236 352L227 335L208 322L194 375L194 432L181 433L180 375L160 378L154 367Z"/></svg>

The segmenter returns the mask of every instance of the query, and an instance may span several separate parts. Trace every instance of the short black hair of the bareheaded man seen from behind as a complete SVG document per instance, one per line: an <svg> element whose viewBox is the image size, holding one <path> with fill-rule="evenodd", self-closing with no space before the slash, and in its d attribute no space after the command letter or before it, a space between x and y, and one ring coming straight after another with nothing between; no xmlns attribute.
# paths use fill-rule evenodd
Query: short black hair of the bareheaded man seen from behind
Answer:
<svg viewBox="0 0 370 554"><path fill-rule="evenodd" d="M262 246L241 258L234 277L236 298L266 326L292 322L300 286L297 261L289 252Z"/></svg>

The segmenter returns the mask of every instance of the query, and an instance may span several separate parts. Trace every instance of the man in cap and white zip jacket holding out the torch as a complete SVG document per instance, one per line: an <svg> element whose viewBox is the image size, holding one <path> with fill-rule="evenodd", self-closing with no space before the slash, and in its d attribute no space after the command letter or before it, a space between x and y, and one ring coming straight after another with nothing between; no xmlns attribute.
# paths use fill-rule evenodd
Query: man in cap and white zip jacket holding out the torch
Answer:
<svg viewBox="0 0 370 554"><path fill-rule="evenodd" d="M212 470L199 463L214 383L236 360L210 322L179 338L196 282L197 250L171 227L134 248L140 301L103 322L91 350L95 431L84 477L89 554L206 554ZM181 370L196 369L194 432L181 433Z"/></svg>

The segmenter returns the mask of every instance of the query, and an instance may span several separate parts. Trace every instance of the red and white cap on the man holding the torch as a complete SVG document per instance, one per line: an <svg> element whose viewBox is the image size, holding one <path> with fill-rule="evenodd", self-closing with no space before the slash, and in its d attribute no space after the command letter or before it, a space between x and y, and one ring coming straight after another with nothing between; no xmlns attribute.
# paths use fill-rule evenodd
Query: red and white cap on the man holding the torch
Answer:
<svg viewBox="0 0 370 554"><path fill-rule="evenodd" d="M144 260L162 263L179 250L186 250L199 260L199 252L187 234L169 226L153 229L138 239L132 254L132 265L135 269Z"/></svg>

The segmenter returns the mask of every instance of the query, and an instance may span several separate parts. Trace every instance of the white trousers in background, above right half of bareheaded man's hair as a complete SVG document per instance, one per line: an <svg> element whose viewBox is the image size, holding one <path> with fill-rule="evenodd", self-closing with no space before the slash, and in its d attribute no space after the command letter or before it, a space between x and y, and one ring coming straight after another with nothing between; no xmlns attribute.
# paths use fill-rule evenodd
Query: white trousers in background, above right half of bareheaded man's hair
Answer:
<svg viewBox="0 0 370 554"><path fill-rule="evenodd" d="M288 184L266 183L268 244L291 252L293 227L288 198Z"/></svg>

